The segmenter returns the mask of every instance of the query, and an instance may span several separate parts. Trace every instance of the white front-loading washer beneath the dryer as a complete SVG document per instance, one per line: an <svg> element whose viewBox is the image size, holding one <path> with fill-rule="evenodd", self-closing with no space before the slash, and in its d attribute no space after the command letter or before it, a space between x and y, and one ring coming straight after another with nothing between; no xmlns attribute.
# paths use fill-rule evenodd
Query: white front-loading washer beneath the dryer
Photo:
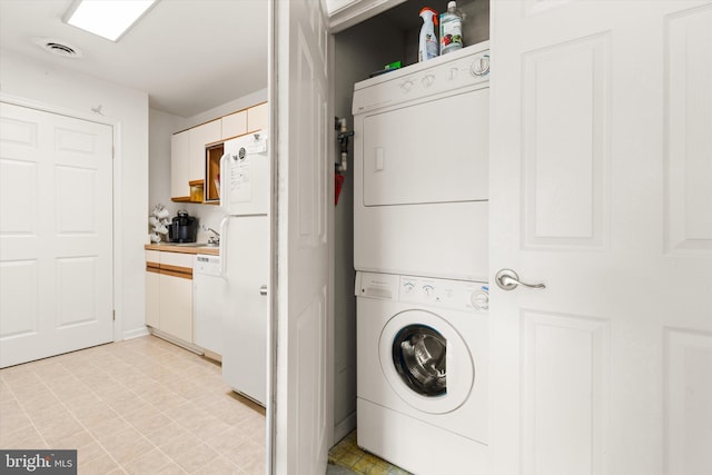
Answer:
<svg viewBox="0 0 712 475"><path fill-rule="evenodd" d="M360 447L416 474L488 473L487 293L356 274Z"/></svg>

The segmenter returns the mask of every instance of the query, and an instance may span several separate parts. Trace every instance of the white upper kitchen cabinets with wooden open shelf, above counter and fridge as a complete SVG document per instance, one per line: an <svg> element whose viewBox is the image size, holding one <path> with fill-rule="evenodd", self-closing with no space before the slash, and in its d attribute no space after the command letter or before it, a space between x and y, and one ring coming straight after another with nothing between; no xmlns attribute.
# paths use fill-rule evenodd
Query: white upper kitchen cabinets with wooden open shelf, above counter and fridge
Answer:
<svg viewBox="0 0 712 475"><path fill-rule="evenodd" d="M219 202L221 142L264 129L267 120L267 102L263 102L174 133L170 141L171 200Z"/></svg>

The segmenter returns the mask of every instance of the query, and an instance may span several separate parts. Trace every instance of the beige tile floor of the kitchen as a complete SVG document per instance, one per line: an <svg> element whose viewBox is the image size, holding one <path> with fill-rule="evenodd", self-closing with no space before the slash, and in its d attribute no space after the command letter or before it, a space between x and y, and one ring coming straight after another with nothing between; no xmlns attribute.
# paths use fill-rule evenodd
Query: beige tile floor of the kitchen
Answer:
<svg viewBox="0 0 712 475"><path fill-rule="evenodd" d="M0 447L76 448L81 475L263 475L265 410L147 336L1 369Z"/></svg>

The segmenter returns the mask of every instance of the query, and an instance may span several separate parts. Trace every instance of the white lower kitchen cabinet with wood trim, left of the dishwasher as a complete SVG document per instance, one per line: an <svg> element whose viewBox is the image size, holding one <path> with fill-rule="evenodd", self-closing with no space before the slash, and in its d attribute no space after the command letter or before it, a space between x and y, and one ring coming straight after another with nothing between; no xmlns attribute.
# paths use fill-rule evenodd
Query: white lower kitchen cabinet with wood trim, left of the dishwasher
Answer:
<svg viewBox="0 0 712 475"><path fill-rule="evenodd" d="M146 325L194 343L192 255L146 250Z"/></svg>

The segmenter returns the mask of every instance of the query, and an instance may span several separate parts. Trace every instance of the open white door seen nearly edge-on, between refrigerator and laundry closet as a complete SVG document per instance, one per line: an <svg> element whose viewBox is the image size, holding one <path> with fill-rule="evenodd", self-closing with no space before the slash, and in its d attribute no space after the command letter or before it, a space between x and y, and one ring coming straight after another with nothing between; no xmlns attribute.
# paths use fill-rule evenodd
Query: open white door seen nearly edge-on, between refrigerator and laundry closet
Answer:
<svg viewBox="0 0 712 475"><path fill-rule="evenodd" d="M270 103L277 190L276 473L323 474L334 428L327 335L333 314L329 244L332 137L322 2L274 7Z"/></svg>

